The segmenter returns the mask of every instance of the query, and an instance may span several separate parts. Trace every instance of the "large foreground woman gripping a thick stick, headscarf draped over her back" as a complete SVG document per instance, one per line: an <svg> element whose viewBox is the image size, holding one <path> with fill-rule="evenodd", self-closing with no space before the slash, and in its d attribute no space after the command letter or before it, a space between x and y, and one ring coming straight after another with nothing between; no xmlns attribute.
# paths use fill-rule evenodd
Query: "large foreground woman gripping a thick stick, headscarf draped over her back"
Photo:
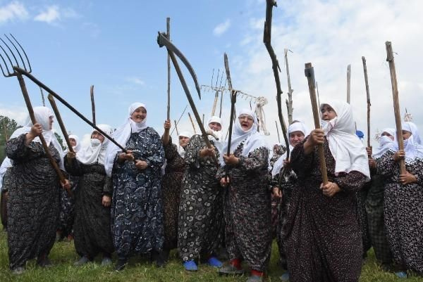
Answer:
<svg viewBox="0 0 423 282"><path fill-rule="evenodd" d="M355 135L351 106L320 106L323 129L293 149L298 176L290 198L283 240L290 281L357 282L362 238L355 193L370 179L367 153ZM323 145L328 183L323 184L317 145Z"/></svg>

